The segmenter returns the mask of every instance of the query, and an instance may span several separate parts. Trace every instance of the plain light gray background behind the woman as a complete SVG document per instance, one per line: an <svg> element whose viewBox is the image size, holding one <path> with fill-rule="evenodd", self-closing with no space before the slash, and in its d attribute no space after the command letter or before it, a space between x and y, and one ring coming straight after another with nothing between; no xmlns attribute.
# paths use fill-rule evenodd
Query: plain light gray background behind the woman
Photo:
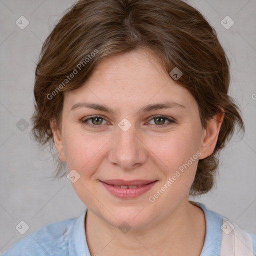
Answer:
<svg viewBox="0 0 256 256"><path fill-rule="evenodd" d="M217 31L231 60L229 94L242 109L245 135L237 134L222 151L217 186L204 203L239 226L256 233L256 93L255 0L188 0ZM35 62L42 42L73 0L0 0L0 252L40 227L78 216L85 208L70 181L51 180L51 155L40 151L29 136L33 109ZM25 16L20 29L15 21ZM230 16L234 25L220 21ZM256 98L256 95L255 97ZM21 119L28 127L19 130ZM15 226L24 220L23 235Z"/></svg>

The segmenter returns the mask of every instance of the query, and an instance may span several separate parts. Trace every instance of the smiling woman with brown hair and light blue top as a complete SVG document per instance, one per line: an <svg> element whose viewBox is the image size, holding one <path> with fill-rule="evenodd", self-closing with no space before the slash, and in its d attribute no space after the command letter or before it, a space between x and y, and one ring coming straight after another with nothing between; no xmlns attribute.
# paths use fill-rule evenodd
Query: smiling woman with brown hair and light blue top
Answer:
<svg viewBox="0 0 256 256"><path fill-rule="evenodd" d="M87 210L6 255L253 255L256 235L188 200L244 130L215 30L181 0L80 0L36 67L34 138Z"/></svg>

